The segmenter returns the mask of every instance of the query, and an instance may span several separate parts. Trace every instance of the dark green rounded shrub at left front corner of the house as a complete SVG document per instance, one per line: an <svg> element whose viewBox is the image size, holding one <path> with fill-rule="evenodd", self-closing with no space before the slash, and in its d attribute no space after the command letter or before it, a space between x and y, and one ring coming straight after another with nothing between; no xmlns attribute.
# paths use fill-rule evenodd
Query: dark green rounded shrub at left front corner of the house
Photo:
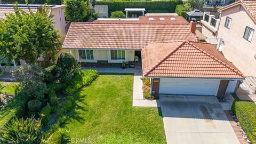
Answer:
<svg viewBox="0 0 256 144"><path fill-rule="evenodd" d="M76 66L76 59L72 54L64 52L60 54L60 57L57 61L57 67L62 69L69 69L73 66Z"/></svg>

